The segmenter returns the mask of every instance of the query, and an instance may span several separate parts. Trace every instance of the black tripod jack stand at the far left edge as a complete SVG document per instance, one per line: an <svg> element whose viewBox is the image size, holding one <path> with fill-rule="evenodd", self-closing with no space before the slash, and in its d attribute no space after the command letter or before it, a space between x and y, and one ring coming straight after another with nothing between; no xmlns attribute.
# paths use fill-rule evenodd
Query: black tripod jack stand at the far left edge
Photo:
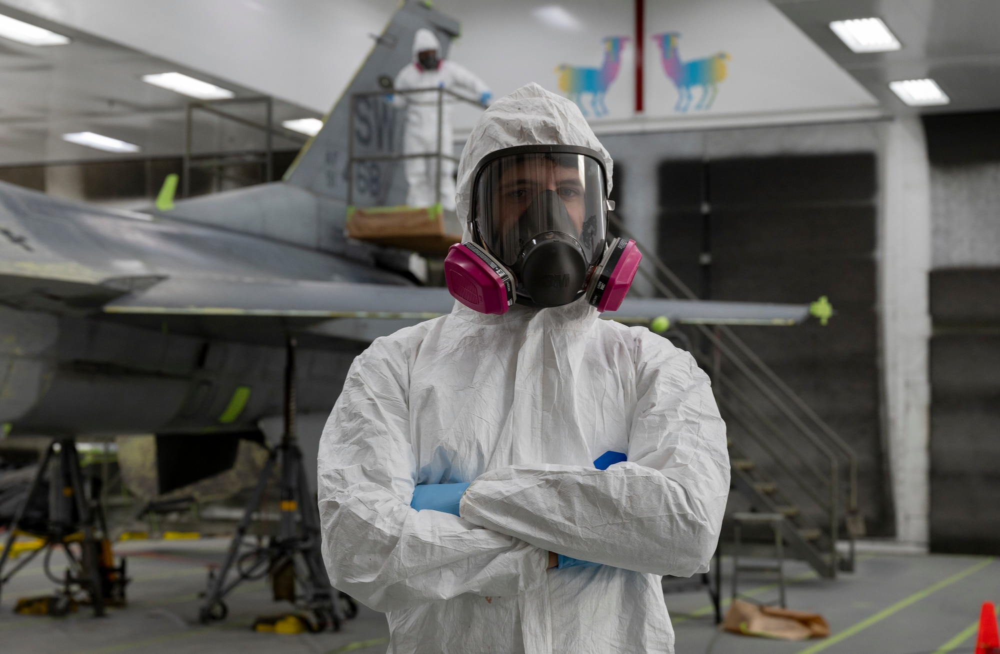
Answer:
<svg viewBox="0 0 1000 654"><path fill-rule="evenodd" d="M45 523L31 522L30 519L26 519L25 514L40 494L46 473L51 473L48 475L49 483L56 492L50 493L49 512ZM101 534L100 538L96 535L98 531ZM45 575L52 582L62 586L62 590L59 595L52 598L31 598L19 603L35 606L34 609L25 612L59 615L62 613L61 609L43 610L37 607L75 606L77 595L84 595L83 601L91 605L94 617L103 616L106 604L121 606L125 603L125 585L129 581L125 577L125 560L122 559L120 566L114 566L107 533L104 512L84 493L83 473L80 469L76 443L72 438L53 440L45 450L38 466L38 474L32 480L28 494L18 507L17 514L8 528L7 540L3 553L0 554L0 589L19 570L41 554ZM3 569L18 534L38 536L44 540L44 544L39 549L24 554L24 558L5 575ZM52 551L60 546L69 560L69 569L62 579L56 577L49 568Z"/></svg>

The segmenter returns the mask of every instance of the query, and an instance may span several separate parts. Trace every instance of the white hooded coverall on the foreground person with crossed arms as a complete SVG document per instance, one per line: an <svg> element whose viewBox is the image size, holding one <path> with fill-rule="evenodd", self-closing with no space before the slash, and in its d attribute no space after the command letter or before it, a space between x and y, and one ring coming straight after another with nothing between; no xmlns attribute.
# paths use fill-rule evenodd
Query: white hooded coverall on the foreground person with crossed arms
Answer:
<svg viewBox="0 0 1000 654"><path fill-rule="evenodd" d="M611 158L569 100L529 84L480 118L487 153L571 144ZM725 424L690 354L581 299L446 316L377 339L323 432L331 582L388 612L394 654L673 652L660 576L704 572L729 493ZM597 470L608 450L628 461ZM461 517L415 484L472 482ZM547 552L598 567L547 570Z"/></svg>

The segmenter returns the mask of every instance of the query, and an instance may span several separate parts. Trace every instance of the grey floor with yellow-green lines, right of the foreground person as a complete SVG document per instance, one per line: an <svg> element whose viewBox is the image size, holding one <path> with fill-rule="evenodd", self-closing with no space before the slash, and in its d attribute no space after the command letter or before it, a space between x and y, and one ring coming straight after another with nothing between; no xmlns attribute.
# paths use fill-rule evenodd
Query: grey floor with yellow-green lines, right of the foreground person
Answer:
<svg viewBox="0 0 1000 654"><path fill-rule="evenodd" d="M987 557L868 554L859 555L856 572L835 581L818 579L798 561L787 562L785 574L788 608L822 614L831 627L829 638L786 642L720 633L707 593L667 594L677 653L972 652L980 606L1000 600L1000 561ZM773 580L773 575L741 573L740 593L776 602ZM727 604L729 593L725 575Z"/></svg>

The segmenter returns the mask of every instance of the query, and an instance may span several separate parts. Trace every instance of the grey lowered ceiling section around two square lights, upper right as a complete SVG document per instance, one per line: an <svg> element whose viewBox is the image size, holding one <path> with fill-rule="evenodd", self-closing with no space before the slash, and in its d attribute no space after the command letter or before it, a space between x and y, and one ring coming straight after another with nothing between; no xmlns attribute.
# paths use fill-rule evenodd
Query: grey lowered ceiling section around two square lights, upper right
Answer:
<svg viewBox="0 0 1000 654"><path fill-rule="evenodd" d="M915 112L889 90L894 80L931 78L950 104L920 113L1000 107L1000 2L995 0L772 0L884 107ZM835 20L879 17L902 43L894 52L856 54L830 29Z"/></svg>

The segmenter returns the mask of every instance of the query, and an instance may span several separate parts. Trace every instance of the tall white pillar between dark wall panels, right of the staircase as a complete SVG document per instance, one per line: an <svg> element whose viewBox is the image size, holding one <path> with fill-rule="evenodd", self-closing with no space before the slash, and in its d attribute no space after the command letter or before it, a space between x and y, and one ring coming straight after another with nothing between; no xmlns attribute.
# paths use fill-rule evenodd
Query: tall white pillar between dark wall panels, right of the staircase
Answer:
<svg viewBox="0 0 1000 654"><path fill-rule="evenodd" d="M880 157L879 309L896 537L926 546L930 509L931 199L919 118L886 123Z"/></svg>

